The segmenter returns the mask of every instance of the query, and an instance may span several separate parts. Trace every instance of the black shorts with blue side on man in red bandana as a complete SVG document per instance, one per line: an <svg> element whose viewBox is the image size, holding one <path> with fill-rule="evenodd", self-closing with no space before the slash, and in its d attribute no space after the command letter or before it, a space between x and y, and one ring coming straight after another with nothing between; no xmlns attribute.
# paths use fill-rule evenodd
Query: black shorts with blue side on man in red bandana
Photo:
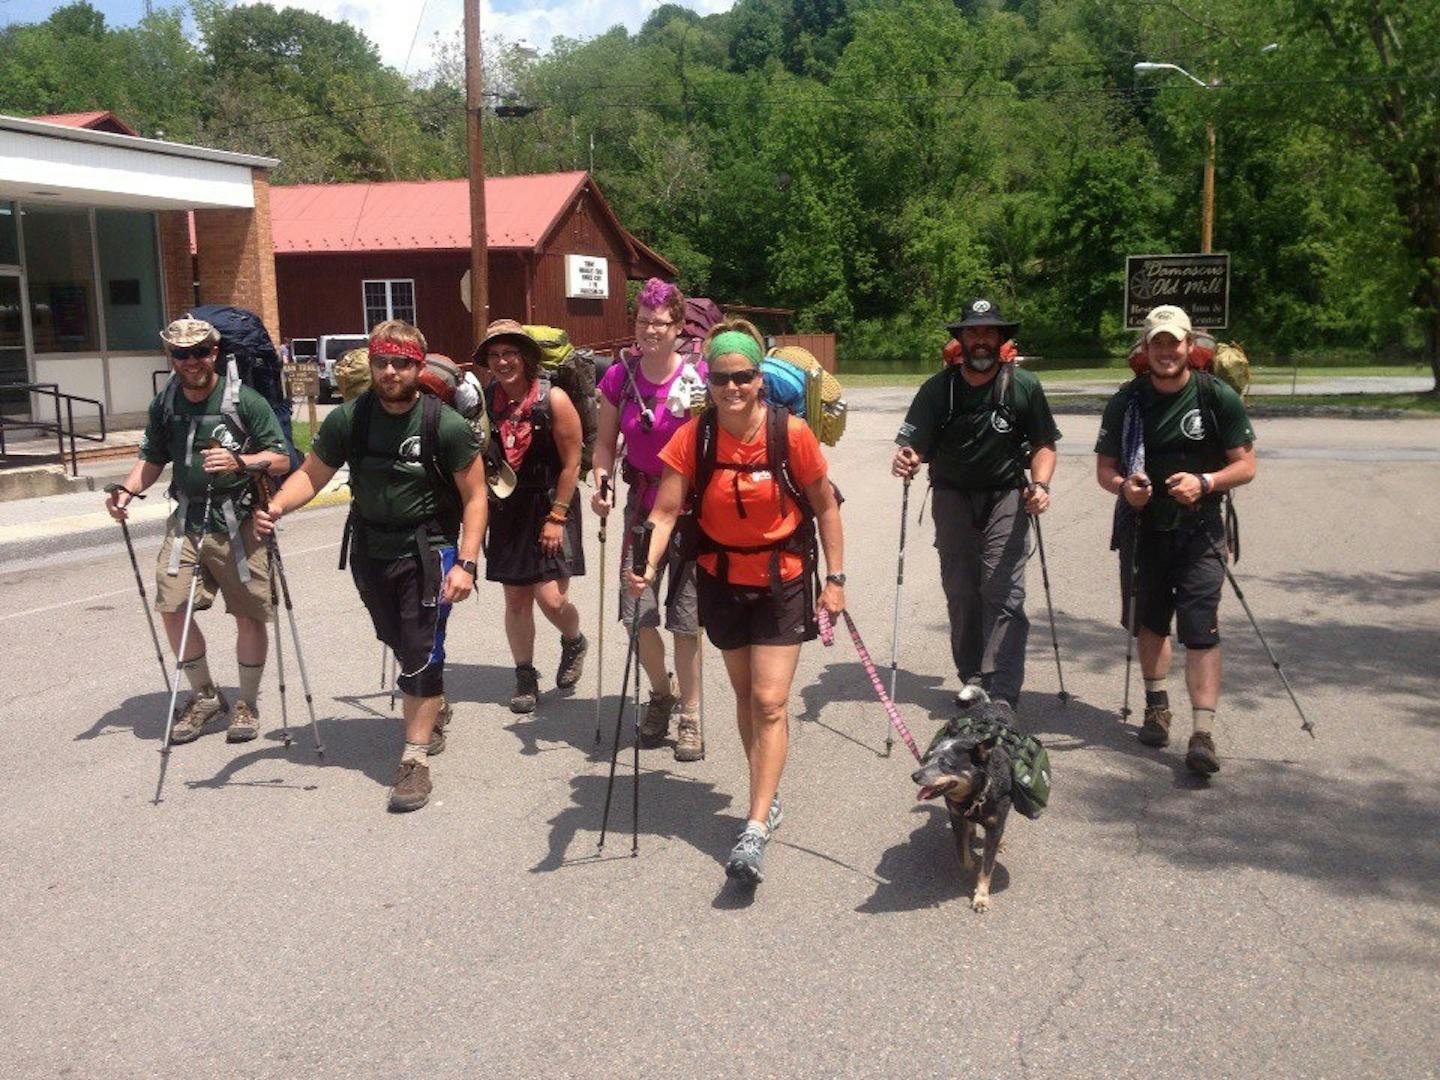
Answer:
<svg viewBox="0 0 1440 1080"><path fill-rule="evenodd" d="M455 549L438 547L426 557L439 559L439 582L455 566ZM389 645L399 660L400 691L410 697L436 697L445 693L445 622L451 605L439 596L426 596L419 556L370 559L351 552L350 576L370 612L374 636Z"/></svg>

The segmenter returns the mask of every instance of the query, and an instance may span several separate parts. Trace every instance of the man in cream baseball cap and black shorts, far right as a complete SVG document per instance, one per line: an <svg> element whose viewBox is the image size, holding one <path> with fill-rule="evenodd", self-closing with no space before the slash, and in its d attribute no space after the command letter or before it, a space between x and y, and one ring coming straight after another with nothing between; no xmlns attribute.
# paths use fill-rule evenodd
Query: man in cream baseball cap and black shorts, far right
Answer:
<svg viewBox="0 0 1440 1080"><path fill-rule="evenodd" d="M1185 765L1210 775L1220 769L1211 729L1220 698L1220 592L1228 557L1223 495L1254 480L1254 431L1240 396L1191 367L1194 331L1181 308L1151 311L1143 346L1145 372L1104 408L1094 444L1096 480L1123 498L1110 546L1120 552L1123 621L1138 638L1145 675L1139 739L1155 747L1169 743L1165 678L1174 619L1175 636L1185 647L1194 717ZM1129 626L1132 586L1136 626Z"/></svg>

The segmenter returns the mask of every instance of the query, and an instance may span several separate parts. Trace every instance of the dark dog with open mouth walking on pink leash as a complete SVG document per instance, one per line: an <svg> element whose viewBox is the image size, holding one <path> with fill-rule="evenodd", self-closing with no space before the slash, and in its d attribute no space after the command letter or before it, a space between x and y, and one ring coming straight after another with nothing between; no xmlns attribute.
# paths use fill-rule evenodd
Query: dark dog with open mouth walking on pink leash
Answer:
<svg viewBox="0 0 1440 1080"><path fill-rule="evenodd" d="M998 720L1004 724L1015 719L1007 704L992 703L985 691L966 690L966 700L962 701L966 716L976 720ZM920 785L917 799L945 799L962 870L968 871L975 865L971 850L975 828L985 829L985 848L981 854L981 870L975 880L971 907L976 912L989 910L991 876L995 873L995 855L999 854L1011 808L1011 757L999 736L991 734L985 739L973 733L946 736L924 756L910 779Z"/></svg>

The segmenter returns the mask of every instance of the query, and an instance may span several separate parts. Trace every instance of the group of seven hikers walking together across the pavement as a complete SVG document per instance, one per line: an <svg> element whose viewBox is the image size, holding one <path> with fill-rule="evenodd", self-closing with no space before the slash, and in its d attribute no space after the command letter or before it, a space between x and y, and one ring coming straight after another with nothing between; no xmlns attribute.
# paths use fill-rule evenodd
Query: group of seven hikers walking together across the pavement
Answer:
<svg viewBox="0 0 1440 1080"><path fill-rule="evenodd" d="M700 634L721 652L750 773L746 824L726 873L757 883L783 816L779 783L799 649L822 618L845 609L841 498L812 426L772 400L759 331L721 320L683 347L684 320L681 291L648 281L636 298L635 344L598 384L590 510L603 528L618 472L626 488L618 618L649 684L642 746L664 744L674 721L675 760L704 756ZM930 467L962 693L979 685L1011 708L1024 683L1031 518L1050 507L1060 438L1040 380L1014 363L1017 328L988 300L965 305L948 325L955 361L916 393L891 462L906 484ZM504 590L516 667L510 707L531 711L540 694L537 606L560 634L556 685L580 680L589 641L569 586L586 572L577 491L589 403L552 384L524 327L488 327L472 356L477 379L431 354L416 327L376 325L369 389L330 412L294 471L269 405L238 383L233 366L225 372L216 328L186 317L160 337L174 376L151 403L140 458L107 507L124 520L127 504L173 467L177 510L154 606L192 696L171 717L170 743L189 743L222 717L229 742L259 733L275 528L341 467L351 490L341 566L348 560L374 634L396 657L403 694L390 809L429 799L429 759L445 747L452 711L446 619L474 590L481 559L485 579ZM1151 312L1140 370L1104 410L1096 478L1119 497L1122 621L1138 636L1146 688L1139 737L1149 746L1169 740L1174 621L1192 706L1185 760L1212 773L1227 557L1220 500L1254 477L1254 436L1240 396L1191 366L1192 341L1184 311ZM187 618L216 593L238 625L233 704Z"/></svg>

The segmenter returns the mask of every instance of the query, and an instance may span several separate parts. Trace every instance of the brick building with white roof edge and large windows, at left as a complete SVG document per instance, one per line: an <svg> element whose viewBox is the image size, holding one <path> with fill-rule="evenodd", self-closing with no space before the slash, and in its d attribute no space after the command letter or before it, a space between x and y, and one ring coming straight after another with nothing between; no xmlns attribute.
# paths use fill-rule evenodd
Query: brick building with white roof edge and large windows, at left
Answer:
<svg viewBox="0 0 1440 1080"><path fill-rule="evenodd" d="M167 369L158 330L196 302L278 334L276 164L140 138L109 112L0 115L0 387L55 383L137 413ZM37 408L0 389L6 415Z"/></svg>

